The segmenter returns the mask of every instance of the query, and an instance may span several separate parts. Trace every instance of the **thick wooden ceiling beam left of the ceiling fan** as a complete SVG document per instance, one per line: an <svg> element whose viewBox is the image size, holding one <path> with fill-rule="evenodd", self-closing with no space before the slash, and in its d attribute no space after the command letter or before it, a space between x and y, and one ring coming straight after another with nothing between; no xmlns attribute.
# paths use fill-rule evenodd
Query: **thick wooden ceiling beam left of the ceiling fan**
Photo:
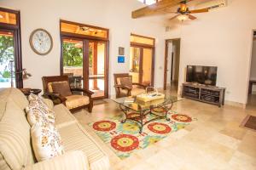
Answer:
<svg viewBox="0 0 256 170"><path fill-rule="evenodd" d="M189 1L193 0L187 0L187 2ZM148 5L147 7L132 11L131 17L133 19L137 19L143 16L166 13L168 8L175 7L180 4L180 2L181 0L162 0L159 3L154 3L152 5Z"/></svg>

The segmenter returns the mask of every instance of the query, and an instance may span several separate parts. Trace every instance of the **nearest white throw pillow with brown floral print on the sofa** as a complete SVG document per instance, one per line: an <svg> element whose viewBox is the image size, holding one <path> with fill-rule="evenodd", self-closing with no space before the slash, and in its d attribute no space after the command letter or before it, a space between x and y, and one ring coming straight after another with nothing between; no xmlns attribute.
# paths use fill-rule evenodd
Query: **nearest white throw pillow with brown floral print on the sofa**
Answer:
<svg viewBox="0 0 256 170"><path fill-rule="evenodd" d="M53 126L34 124L31 128L32 148L38 161L48 160L64 154L61 136Z"/></svg>

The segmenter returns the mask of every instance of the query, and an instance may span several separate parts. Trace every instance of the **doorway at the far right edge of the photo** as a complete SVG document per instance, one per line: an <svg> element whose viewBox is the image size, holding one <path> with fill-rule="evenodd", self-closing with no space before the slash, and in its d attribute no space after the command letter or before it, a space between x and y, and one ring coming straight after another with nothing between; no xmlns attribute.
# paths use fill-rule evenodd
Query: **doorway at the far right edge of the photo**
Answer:
<svg viewBox="0 0 256 170"><path fill-rule="evenodd" d="M256 31L253 31L253 50L247 97L247 109L256 111Z"/></svg>

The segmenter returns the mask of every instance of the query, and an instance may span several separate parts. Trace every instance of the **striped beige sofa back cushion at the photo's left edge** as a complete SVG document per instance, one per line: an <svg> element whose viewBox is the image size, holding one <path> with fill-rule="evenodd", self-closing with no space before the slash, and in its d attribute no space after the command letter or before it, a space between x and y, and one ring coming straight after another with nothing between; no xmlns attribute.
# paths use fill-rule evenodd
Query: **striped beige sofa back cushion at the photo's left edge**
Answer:
<svg viewBox="0 0 256 170"><path fill-rule="evenodd" d="M8 89L9 91L9 89ZM20 92L21 93L21 92ZM4 101L1 100L3 115L0 119L0 160L10 169L21 169L26 165L35 162L32 154L30 126L26 121L24 109L16 105L9 96Z"/></svg>

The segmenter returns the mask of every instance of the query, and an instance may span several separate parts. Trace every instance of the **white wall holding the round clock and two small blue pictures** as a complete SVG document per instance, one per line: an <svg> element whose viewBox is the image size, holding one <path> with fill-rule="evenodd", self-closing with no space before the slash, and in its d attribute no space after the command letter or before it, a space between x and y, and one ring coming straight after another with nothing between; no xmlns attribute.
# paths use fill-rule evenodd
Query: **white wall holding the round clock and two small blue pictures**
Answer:
<svg viewBox="0 0 256 170"><path fill-rule="evenodd" d="M158 60L164 56L164 40L160 38L164 27L152 19L132 20L131 11L141 8L137 0L2 0L0 6L20 10L23 68L32 73L25 87L42 88L43 76L60 74L59 21L70 20L110 29L109 44L109 94L114 94L113 73L129 71L130 34L156 37L155 86L162 87L163 69ZM44 28L53 37L54 47L46 56L35 54L29 45L33 30ZM119 47L125 48L125 64L117 63Z"/></svg>

